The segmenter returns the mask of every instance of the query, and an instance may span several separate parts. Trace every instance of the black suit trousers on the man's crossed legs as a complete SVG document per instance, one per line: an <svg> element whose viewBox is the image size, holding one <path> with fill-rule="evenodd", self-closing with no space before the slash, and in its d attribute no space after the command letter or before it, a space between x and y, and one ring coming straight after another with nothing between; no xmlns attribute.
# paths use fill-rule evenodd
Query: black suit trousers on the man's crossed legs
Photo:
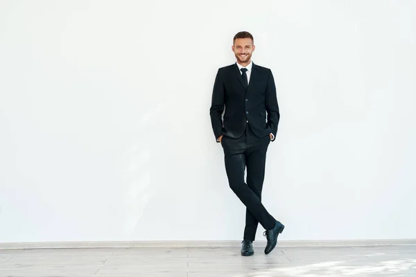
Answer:
<svg viewBox="0 0 416 277"><path fill-rule="evenodd" d="M275 218L261 203L269 144L269 135L261 138L256 136L248 124L238 139L229 136L223 136L221 139L229 187L246 207L244 240L254 241L259 223L266 230L275 227ZM247 183L244 180L245 168Z"/></svg>

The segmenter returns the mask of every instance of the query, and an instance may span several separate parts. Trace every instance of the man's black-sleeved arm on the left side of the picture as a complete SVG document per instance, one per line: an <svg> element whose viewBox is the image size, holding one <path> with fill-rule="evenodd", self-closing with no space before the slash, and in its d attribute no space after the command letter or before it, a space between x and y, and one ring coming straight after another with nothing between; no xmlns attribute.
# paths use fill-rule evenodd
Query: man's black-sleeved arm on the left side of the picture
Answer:
<svg viewBox="0 0 416 277"><path fill-rule="evenodd" d="M209 115L211 116L212 130L217 142L219 137L223 135L223 120L221 116L224 111L224 85L223 85L223 71L218 69L216 74L214 89L212 91L211 109Z"/></svg>

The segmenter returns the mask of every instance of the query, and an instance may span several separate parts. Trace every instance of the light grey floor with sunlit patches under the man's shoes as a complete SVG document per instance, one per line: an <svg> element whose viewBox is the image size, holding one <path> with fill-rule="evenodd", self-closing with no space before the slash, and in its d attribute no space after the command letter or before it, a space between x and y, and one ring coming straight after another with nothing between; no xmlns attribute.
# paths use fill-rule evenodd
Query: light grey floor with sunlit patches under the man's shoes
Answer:
<svg viewBox="0 0 416 277"><path fill-rule="evenodd" d="M0 276L416 276L416 246L0 250Z"/></svg>

